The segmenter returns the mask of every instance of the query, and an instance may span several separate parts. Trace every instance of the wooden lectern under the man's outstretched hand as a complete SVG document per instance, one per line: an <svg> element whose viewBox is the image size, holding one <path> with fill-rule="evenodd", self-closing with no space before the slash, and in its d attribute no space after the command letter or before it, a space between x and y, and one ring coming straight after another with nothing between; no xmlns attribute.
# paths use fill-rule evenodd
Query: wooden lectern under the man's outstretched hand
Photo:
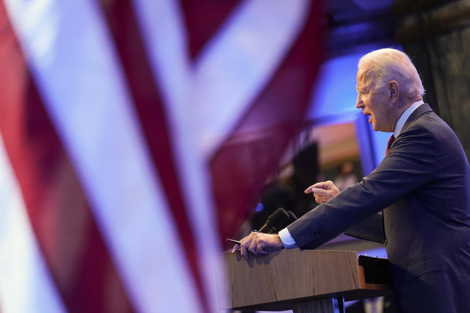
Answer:
<svg viewBox="0 0 470 313"><path fill-rule="evenodd" d="M392 294L376 277L387 270L359 265L355 251L279 250L248 260L238 251L223 259L221 309L341 313L344 301Z"/></svg>

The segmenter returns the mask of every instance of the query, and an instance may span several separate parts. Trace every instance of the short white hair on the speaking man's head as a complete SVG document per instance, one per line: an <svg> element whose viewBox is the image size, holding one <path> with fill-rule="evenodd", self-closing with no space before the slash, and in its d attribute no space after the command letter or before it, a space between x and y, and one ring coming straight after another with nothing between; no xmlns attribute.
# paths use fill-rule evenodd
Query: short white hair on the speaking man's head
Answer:
<svg viewBox="0 0 470 313"><path fill-rule="evenodd" d="M364 55L357 64L367 68L367 74L371 75L376 88L385 86L390 81L397 81L400 90L407 98L424 95L423 83L416 67L410 58L400 50L384 48L369 52Z"/></svg>

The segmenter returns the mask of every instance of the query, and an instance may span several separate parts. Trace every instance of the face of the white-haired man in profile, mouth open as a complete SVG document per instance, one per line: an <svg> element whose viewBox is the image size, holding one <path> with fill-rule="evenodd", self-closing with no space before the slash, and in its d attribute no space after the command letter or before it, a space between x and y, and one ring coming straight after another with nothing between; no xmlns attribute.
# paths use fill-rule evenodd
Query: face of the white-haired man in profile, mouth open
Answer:
<svg viewBox="0 0 470 313"><path fill-rule="evenodd" d="M375 88L371 76L363 68L357 71L357 102L356 107L362 113L370 115L369 123L375 131L392 132L395 123L394 112L390 103L387 86Z"/></svg>

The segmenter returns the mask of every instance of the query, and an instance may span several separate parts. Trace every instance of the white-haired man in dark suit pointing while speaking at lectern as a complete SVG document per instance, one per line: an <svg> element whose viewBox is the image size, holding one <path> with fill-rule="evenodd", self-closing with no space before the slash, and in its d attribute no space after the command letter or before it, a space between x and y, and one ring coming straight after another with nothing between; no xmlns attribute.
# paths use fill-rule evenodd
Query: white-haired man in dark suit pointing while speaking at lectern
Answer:
<svg viewBox="0 0 470 313"><path fill-rule="evenodd" d="M459 140L423 103L418 72L399 50L363 56L357 92L373 129L393 132L383 161L341 192L332 182L310 186L320 206L279 235L251 233L233 252L315 249L383 210L377 229L397 311L470 312L470 167Z"/></svg>

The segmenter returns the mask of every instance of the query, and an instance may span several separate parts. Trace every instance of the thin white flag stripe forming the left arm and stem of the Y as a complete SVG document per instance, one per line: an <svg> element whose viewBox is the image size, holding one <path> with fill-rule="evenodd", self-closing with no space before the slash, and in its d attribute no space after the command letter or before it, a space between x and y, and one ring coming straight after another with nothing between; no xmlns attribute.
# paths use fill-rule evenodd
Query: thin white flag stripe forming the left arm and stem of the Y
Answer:
<svg viewBox="0 0 470 313"><path fill-rule="evenodd" d="M193 116L193 94L184 17L174 0L134 0L142 37L164 98L177 172L185 197L188 220L197 246L200 271L213 312L218 311L214 271L219 271L220 251L217 214L211 202L211 183L207 160L197 145ZM210 86L208 86L210 87ZM211 300L212 299L212 300Z"/></svg>

